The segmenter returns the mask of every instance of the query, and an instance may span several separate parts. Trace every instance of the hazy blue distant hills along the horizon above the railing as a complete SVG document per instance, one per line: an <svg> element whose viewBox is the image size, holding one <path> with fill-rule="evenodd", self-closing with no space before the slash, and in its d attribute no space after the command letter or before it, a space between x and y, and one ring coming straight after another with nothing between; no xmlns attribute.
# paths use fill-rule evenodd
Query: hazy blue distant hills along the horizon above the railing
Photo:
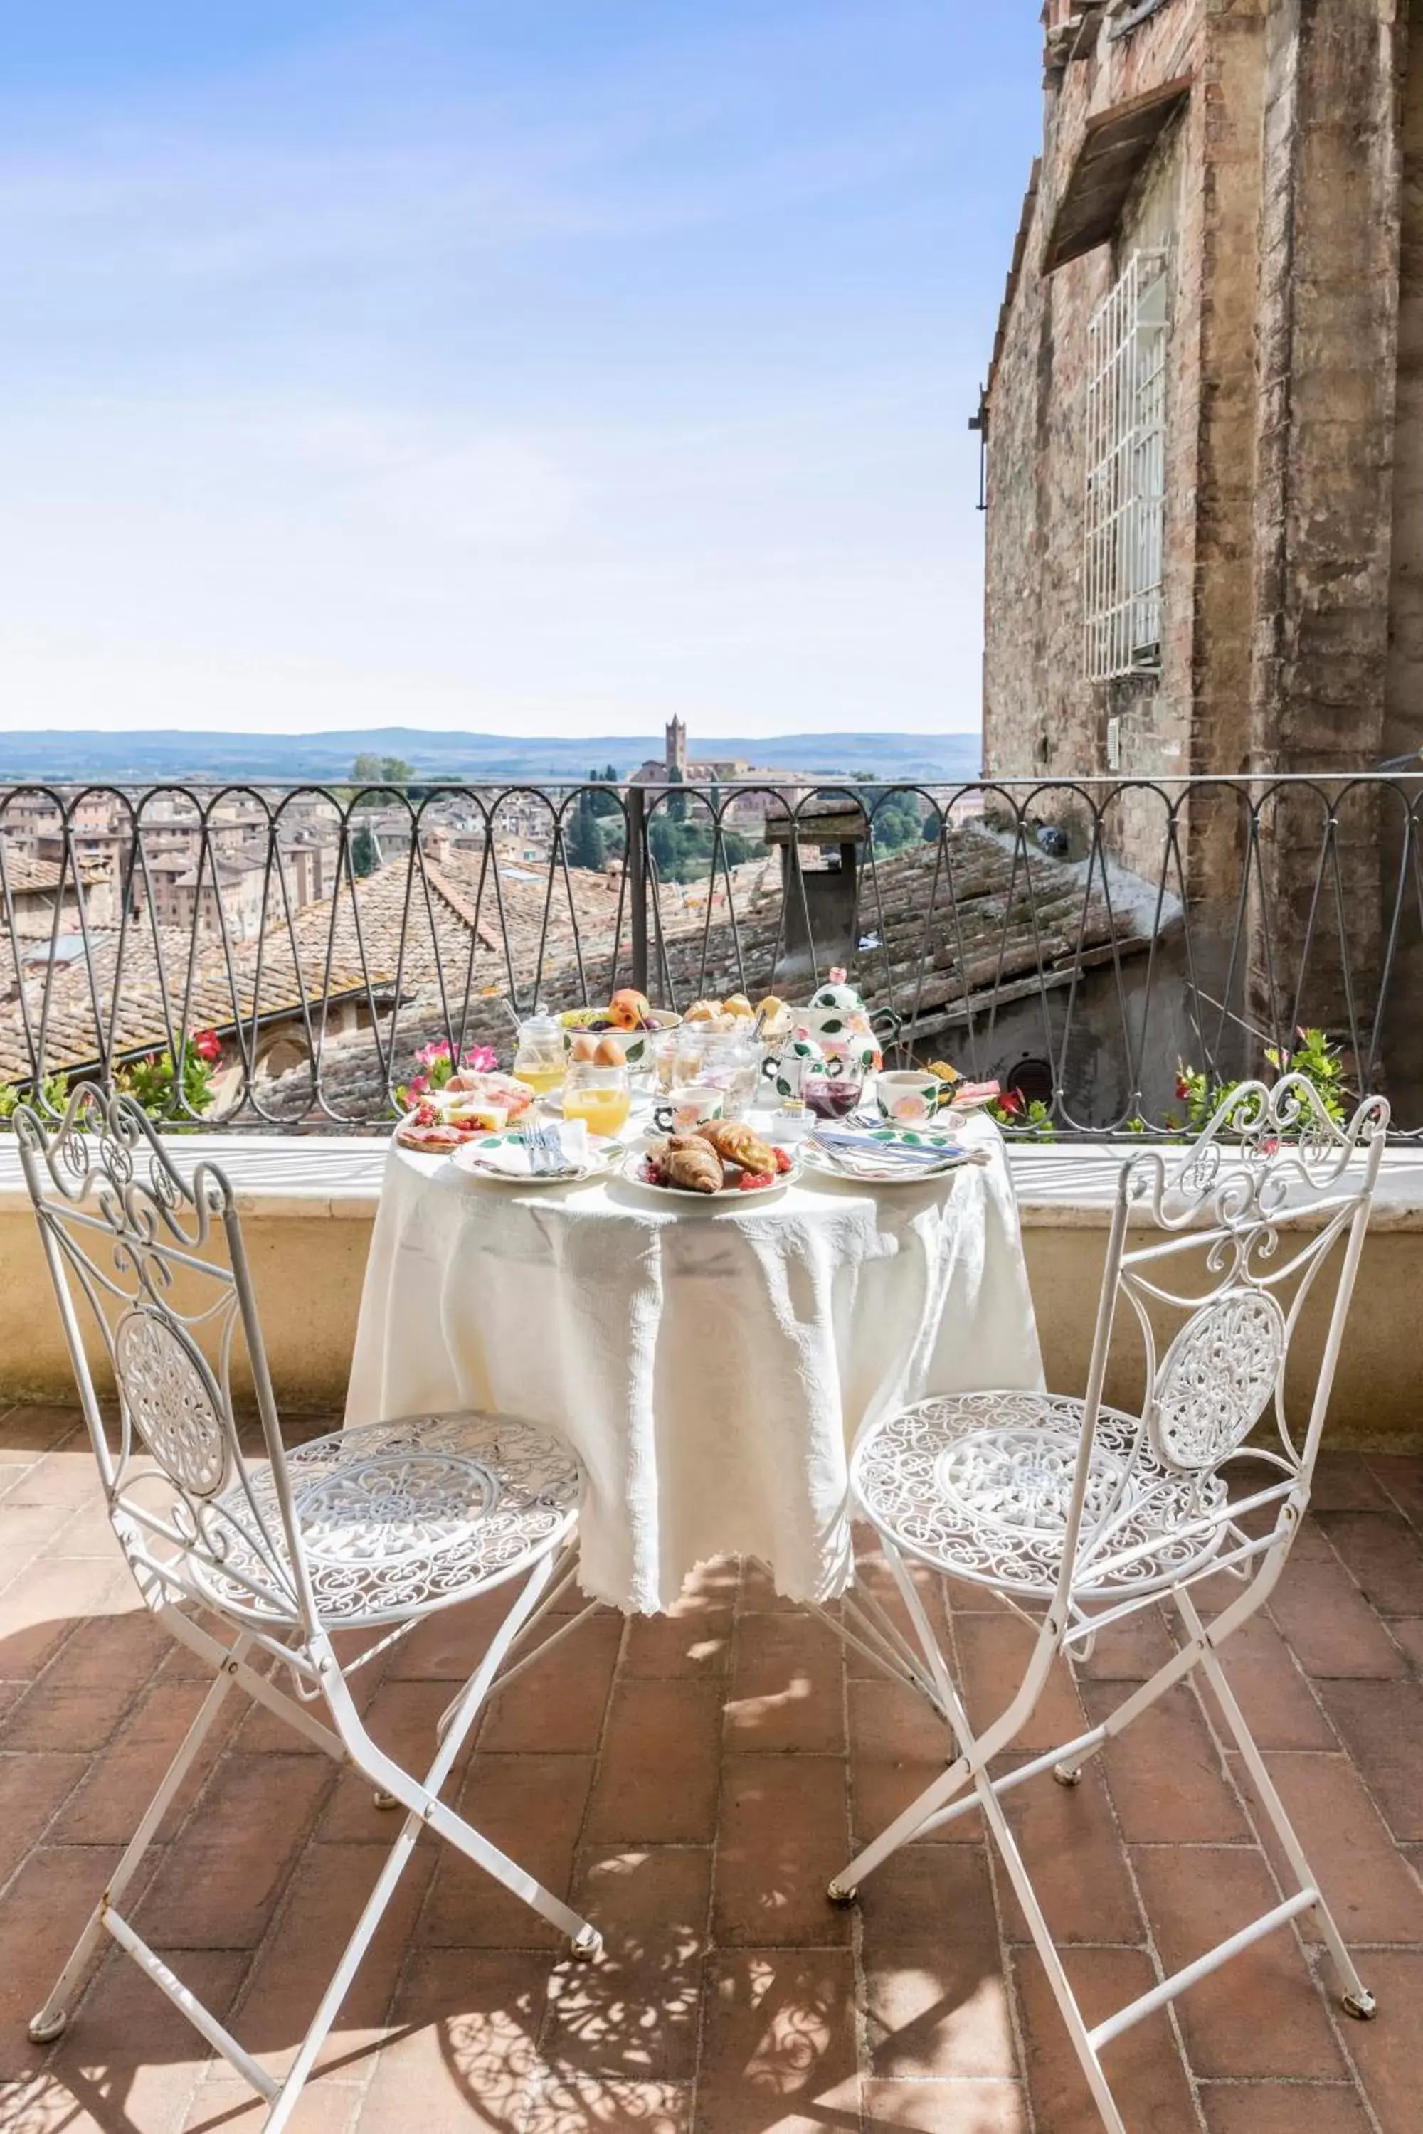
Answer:
<svg viewBox="0 0 1423 2134"><path fill-rule="evenodd" d="M593 764L636 770L661 755L661 736L429 734L414 726L335 734L0 734L0 781L15 779L343 779L356 755L399 755L429 777L576 779ZM691 734L691 755L745 758L817 777L875 770L883 779L973 779L977 734L774 734L766 740Z"/></svg>

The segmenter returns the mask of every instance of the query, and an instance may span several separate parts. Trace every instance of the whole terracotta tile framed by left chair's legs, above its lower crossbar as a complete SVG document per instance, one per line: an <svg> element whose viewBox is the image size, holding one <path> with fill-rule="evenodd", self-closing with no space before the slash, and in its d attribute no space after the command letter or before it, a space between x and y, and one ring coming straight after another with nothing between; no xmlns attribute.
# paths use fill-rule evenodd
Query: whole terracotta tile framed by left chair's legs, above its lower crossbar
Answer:
<svg viewBox="0 0 1423 2134"><path fill-rule="evenodd" d="M256 1948L331 1784L324 1756L226 1756L134 1921L156 1948Z"/></svg>

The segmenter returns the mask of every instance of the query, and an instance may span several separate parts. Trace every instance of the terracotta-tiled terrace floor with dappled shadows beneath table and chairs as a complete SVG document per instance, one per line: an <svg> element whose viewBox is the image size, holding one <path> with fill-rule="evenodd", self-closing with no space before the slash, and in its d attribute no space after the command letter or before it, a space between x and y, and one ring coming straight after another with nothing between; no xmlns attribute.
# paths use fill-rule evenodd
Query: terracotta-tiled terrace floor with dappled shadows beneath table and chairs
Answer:
<svg viewBox="0 0 1423 2134"><path fill-rule="evenodd" d="M875 1577L873 1560L866 1577ZM66 2038L26 2017L198 1703L137 1609L66 1411L0 1417L0 2125L177 2134L262 2108L113 1950ZM984 1718L1022 1628L958 1590ZM371 1724L412 1756L482 1637L450 1613L397 1645ZM1107 1635L1024 1739L1099 1716L1167 1650ZM382 1662L375 1662L380 1667ZM1344 2019L1291 1929L1107 2049L1133 2134L1417 2134L1423 2106L1423 1460L1329 1455L1269 1618L1227 1658L1376 2023ZM371 1671L375 1673L375 1669ZM233 1701L237 1705L237 1699ZM856 1912L824 1899L943 1767L937 1722L779 1603L708 1571L674 1618L593 1618L482 1720L461 1799L606 1936L565 1963L529 1912L420 1842L294 2128L305 2134L1090 2134L1037 1957L975 1820L898 1854ZM139 1929L279 2064L393 1835L352 1778L252 1707L179 1799ZM1214 1716L1171 1692L1075 1793L1013 1795L1088 2019L1274 1901Z"/></svg>

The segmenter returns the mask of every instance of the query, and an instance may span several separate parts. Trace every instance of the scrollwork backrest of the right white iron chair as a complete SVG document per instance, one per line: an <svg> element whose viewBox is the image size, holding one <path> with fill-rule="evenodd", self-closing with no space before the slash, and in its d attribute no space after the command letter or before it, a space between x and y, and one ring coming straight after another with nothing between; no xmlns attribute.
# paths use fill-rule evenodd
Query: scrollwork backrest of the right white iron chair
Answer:
<svg viewBox="0 0 1423 2134"><path fill-rule="evenodd" d="M1144 1394L1133 1443L1118 1458L1120 1504L1105 1507L1105 1522L1099 1502L1090 1522L1071 1522L1073 1549L1090 1549L1097 1571L1103 1524L1109 1530L1120 1519L1126 1532L1133 1492L1150 1487L1150 1477L1165 1477L1163 1494L1169 1490L1182 1526L1201 1534L1212 1519L1229 1524L1235 1511L1220 1470L1246 1443L1278 1477L1252 1494L1252 1509L1289 1500L1291 1517L1304 1511L1387 1129L1382 1097L1340 1122L1312 1082L1286 1076L1231 1090L1184 1154L1141 1150L1122 1165L1088 1374L1080 1502L1124 1319L1139 1334ZM1137 1242L1144 1225L1150 1229ZM1295 1419L1286 1366L1310 1304L1323 1317L1323 1349L1308 1413ZM1120 1426L1114 1432L1120 1436ZM1071 1575L1088 1568L1077 1556Z"/></svg>

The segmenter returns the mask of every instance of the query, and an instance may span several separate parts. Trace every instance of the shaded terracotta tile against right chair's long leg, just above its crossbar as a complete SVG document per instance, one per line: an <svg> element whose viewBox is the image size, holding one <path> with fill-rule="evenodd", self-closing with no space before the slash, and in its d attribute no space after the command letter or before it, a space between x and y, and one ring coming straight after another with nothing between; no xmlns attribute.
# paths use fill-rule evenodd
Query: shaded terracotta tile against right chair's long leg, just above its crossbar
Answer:
<svg viewBox="0 0 1423 2134"><path fill-rule="evenodd" d="M1086 1767L1082 1784L1058 1786L1043 1771L1005 1797L1007 1818L1033 1876L1037 1901L1058 1942L1141 1942L1144 1925L1126 1874L1126 1854L1112 1818L1103 1758ZM1007 1869L998 1867L1003 1933L1028 1942Z"/></svg>

